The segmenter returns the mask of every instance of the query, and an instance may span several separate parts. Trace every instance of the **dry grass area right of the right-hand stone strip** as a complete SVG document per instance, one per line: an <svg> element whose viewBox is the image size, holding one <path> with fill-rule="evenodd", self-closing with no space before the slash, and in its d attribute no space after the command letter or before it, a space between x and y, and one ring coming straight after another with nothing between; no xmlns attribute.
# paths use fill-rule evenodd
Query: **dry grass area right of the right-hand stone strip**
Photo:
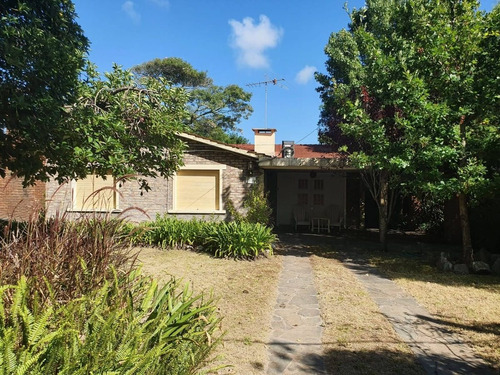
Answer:
<svg viewBox="0 0 500 375"><path fill-rule="evenodd" d="M500 278L441 273L422 262L377 257L372 263L411 294L500 373Z"/></svg>

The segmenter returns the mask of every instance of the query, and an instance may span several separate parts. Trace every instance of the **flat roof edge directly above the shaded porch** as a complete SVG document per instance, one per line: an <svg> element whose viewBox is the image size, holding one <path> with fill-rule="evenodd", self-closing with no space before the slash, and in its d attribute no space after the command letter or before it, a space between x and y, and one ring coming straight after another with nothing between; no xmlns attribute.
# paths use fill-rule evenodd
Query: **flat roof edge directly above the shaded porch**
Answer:
<svg viewBox="0 0 500 375"><path fill-rule="evenodd" d="M262 169L333 169L356 170L344 158L266 158L259 159Z"/></svg>

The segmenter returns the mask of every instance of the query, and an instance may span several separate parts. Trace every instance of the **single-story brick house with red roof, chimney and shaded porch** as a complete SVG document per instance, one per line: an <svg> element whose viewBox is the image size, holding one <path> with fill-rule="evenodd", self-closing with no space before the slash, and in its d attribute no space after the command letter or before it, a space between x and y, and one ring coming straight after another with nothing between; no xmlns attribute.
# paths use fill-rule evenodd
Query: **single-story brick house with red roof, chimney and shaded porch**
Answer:
<svg viewBox="0 0 500 375"><path fill-rule="evenodd" d="M278 227L327 217L332 225L340 218L342 223L336 225L360 226L364 190L359 173L341 154L325 145L276 145L276 129L253 130L255 141L248 145L179 134L187 146L184 165L171 178L148 179L148 192L141 191L135 180L89 176L63 185L40 183L36 194L30 195L29 189L19 188L19 181L5 179L0 185L0 217L26 219L30 205L20 202L29 199L44 202L48 216L106 212L126 214L134 221L154 219L157 214L224 220L229 215L227 202L241 210L245 195L260 177ZM99 193L92 194L95 191ZM316 222L316 227L325 225L326 220Z"/></svg>

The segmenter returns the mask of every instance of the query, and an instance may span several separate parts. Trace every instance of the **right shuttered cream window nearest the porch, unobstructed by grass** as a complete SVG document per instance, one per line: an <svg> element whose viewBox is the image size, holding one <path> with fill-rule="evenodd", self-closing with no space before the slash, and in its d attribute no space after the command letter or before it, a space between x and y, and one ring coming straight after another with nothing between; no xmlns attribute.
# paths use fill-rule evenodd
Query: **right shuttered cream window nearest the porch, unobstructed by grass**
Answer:
<svg viewBox="0 0 500 375"><path fill-rule="evenodd" d="M210 213L222 210L223 168L212 168L191 167L177 172L174 211Z"/></svg>

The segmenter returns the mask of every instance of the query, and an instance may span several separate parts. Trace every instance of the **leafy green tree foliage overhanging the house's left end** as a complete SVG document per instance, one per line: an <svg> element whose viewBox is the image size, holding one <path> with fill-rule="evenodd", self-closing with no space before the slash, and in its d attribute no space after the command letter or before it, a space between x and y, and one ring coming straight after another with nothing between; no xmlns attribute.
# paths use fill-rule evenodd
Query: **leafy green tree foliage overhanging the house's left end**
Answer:
<svg viewBox="0 0 500 375"><path fill-rule="evenodd" d="M170 176L187 94L164 79L138 85L118 66L100 77L69 0L0 5L0 176L25 184L93 173Z"/></svg>

